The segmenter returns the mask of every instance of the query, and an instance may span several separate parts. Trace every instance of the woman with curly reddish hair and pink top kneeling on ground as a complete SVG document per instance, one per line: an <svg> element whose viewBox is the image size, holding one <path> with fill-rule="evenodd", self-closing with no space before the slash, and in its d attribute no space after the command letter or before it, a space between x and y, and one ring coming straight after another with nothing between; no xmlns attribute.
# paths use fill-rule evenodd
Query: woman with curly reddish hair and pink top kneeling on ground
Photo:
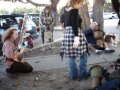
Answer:
<svg viewBox="0 0 120 90"><path fill-rule="evenodd" d="M14 51L17 48L18 32L15 28L10 28L3 36L3 55L8 68L7 73L30 73L33 71L31 65L23 60L24 49Z"/></svg>

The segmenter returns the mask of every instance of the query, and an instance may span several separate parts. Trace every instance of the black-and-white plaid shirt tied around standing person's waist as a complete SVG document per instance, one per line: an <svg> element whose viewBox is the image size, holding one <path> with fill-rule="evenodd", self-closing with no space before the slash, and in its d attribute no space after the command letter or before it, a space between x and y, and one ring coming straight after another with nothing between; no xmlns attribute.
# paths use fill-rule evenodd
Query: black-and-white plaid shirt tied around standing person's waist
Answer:
<svg viewBox="0 0 120 90"><path fill-rule="evenodd" d="M73 48L74 43L74 33L72 27L66 27L64 33L64 40L61 47L61 52L67 57L78 57L84 52L87 52L87 41L81 30L78 31L78 36L80 37L80 44L78 48Z"/></svg>

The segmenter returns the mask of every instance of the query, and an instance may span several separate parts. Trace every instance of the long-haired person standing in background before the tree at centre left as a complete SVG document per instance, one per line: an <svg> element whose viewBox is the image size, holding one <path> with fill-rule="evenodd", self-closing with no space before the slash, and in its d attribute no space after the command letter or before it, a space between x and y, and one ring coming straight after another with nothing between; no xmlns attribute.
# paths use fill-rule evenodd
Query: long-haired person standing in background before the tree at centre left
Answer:
<svg viewBox="0 0 120 90"><path fill-rule="evenodd" d="M43 36L43 42L44 43L51 43L53 42L53 21L54 21L54 15L52 13L52 10L49 6L46 6L44 11L42 12L42 15L40 17L42 25L45 27L45 30L42 30ZM44 44L43 43L43 44Z"/></svg>

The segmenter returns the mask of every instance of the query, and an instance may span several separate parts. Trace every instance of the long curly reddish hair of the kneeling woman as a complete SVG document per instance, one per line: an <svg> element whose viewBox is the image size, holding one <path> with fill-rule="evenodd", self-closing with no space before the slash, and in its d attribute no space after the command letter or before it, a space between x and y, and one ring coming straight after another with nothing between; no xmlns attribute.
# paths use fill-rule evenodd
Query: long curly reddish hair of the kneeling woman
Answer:
<svg viewBox="0 0 120 90"><path fill-rule="evenodd" d="M4 34L3 38L2 38L2 41L5 42L6 40L10 39L11 36L13 35L14 31L17 31L16 28L13 28L13 27L12 27L12 28L9 28L9 29L5 32L5 34Z"/></svg>

